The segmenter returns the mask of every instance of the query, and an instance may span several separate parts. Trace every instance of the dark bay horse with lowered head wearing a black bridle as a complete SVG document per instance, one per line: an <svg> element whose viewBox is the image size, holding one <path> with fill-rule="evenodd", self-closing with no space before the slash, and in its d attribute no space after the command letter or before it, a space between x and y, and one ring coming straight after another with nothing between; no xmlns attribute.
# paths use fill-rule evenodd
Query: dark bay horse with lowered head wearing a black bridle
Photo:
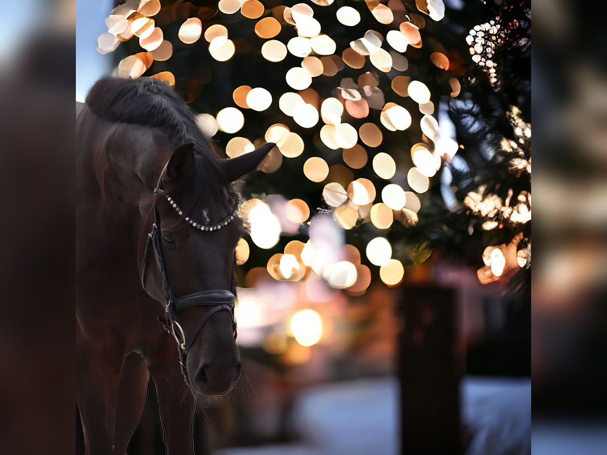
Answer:
<svg viewBox="0 0 607 455"><path fill-rule="evenodd" d="M149 78L95 84L76 141L76 399L87 454L125 453L148 376L169 454L193 453L196 397L228 393L242 372L231 292L244 228L230 184L274 144L220 160L181 98Z"/></svg>

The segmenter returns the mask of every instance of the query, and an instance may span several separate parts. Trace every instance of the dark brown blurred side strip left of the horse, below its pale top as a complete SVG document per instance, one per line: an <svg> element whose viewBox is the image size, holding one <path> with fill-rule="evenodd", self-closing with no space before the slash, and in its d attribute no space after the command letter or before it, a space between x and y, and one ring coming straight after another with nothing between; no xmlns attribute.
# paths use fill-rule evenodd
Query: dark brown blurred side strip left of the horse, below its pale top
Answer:
<svg viewBox="0 0 607 455"><path fill-rule="evenodd" d="M0 452L74 447L73 35L0 69Z"/></svg>

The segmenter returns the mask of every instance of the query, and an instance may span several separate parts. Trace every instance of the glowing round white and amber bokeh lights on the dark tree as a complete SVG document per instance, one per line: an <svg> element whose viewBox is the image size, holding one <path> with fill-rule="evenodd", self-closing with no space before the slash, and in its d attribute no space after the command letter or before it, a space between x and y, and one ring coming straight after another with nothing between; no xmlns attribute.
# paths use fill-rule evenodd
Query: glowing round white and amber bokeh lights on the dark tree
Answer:
<svg viewBox="0 0 607 455"><path fill-rule="evenodd" d="M313 229L314 224L322 225L323 220L329 217L333 218L333 224L345 231L365 223L373 224L379 232L387 232L394 223L414 226L418 223L418 212L422 207L418 195L429 190L430 179L440 170L443 161L452 160L459 144L436 119L433 96L427 84L419 78L401 74L409 68L405 56L407 49L422 47L426 21L443 18L443 1L418 0L415 2L416 10L407 10L399 1L384 4L365 0L364 5L381 24L382 30L389 30L380 33L370 29L362 36L351 36L350 45L345 49L337 49L336 41L325 33L323 25L314 17L315 8L333 8L335 21L343 25L341 30L346 33L361 22L361 12L349 5L337 8L333 3L333 0L311 0L292 7L267 8L258 0L220 0L216 15L213 13L207 21L205 14L201 13L204 8L189 2L174 2L163 7L159 0L126 0L106 19L108 32L99 37L97 50L107 54L116 50L121 42L138 39L141 52L122 59L116 70L120 77L138 78L148 72L153 62L171 59L173 44L164 36L162 27L179 22L177 37L182 43L201 45L206 42L211 58L228 62L237 52L237 43L230 38L229 27L237 26L242 20L255 21L254 33L263 40L260 65L271 66L282 62L288 55L300 59L299 66L285 71L280 67L276 72L273 67L273 77L283 78L291 91L276 99L269 87L234 87L230 100L234 105L225 106L214 115L200 113L197 124L209 138L219 131L229 135L225 153L231 158L251 152L263 141L276 143L277 146L259 167L268 174L276 172L283 160L306 157L303 173L308 180L319 184L319 195L322 194L325 204L330 207L327 211L330 213L314 216L302 199L284 200L270 196L263 200L246 200L239 215L249 226L251 241L262 249L273 249L280 235L297 232L302 223L309 223L310 231L316 232L316 238L311 234L306 243L291 241L282 252L270 258L266 269L276 280L305 280L313 273L324 278L333 288L359 295L371 282L370 269L361 263L361 251L335 237L332 240L337 241L339 248L326 254L320 245L327 242L323 236L329 234L324 234L322 229ZM219 23L231 15L240 15L239 21L232 20L228 26ZM372 28L371 23L369 27ZM294 36L281 38L283 29L293 30ZM480 33L476 33L476 42L479 37ZM476 52L478 46L474 42L470 45L471 53ZM444 52L432 52L430 61L444 72L450 68L449 58ZM485 64L490 66L488 61ZM332 78L344 68L359 70L358 77L342 78L333 87L331 96L320 98L314 90L316 81ZM169 71L151 77L175 85L175 76ZM390 81L389 86L385 80ZM461 87L457 78L446 76L444 84L449 87L450 96L459 95ZM392 101L386 102L388 90L400 99L409 99L407 106L413 103L418 112ZM278 106L280 112L297 127L317 132L324 147L341 151L345 166L330 166L324 158L313 156L291 123L268 125L263 138L238 135L245 126L248 112L263 112L271 106ZM371 116L371 112L379 113L379 122L371 120L377 118L376 115ZM409 130L413 123L419 123L421 134L410 147L413 162L410 169L401 169L399 166L402 165L395 157L385 151L374 152L370 156L369 149L380 147L388 135ZM417 131L417 126L407 133L412 135L413 130ZM357 178L356 173L367 164L384 182L381 187L368 178ZM518 166L523 164L518 163ZM398 172L406 174L408 188L393 181ZM470 194L468 201L473 203L467 205L476 210L486 200L482 192L478 197ZM515 211L522 210L517 207L522 206L515 206ZM509 216L513 220L516 215L513 212ZM241 240L237 247L239 264L245 263L249 252L249 244ZM393 258L392 245L385 235L378 234L368 241L364 254L371 265L379 267L379 276L385 285L398 286L402 282L404 266Z"/></svg>

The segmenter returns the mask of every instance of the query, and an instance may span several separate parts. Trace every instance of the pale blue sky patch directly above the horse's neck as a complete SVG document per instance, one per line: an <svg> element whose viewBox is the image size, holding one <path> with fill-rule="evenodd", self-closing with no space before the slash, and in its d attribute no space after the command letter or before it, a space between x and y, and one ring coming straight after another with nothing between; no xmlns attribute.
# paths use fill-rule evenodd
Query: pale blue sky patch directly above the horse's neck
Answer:
<svg viewBox="0 0 607 455"><path fill-rule="evenodd" d="M112 0L76 0L76 101L84 101L95 81L112 71L112 57L97 52L112 5Z"/></svg>

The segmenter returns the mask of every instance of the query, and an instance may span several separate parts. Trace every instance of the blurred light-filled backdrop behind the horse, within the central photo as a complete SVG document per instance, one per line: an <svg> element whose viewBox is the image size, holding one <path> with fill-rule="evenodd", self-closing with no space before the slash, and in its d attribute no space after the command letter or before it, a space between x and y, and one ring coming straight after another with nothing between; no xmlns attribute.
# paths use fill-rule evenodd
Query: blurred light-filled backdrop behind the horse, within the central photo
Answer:
<svg viewBox="0 0 607 455"><path fill-rule="evenodd" d="M530 21L524 2L77 3L76 101L152 76L220 157L277 143L239 183L245 373L199 400L200 451L529 453ZM162 451L151 386L129 453Z"/></svg>

